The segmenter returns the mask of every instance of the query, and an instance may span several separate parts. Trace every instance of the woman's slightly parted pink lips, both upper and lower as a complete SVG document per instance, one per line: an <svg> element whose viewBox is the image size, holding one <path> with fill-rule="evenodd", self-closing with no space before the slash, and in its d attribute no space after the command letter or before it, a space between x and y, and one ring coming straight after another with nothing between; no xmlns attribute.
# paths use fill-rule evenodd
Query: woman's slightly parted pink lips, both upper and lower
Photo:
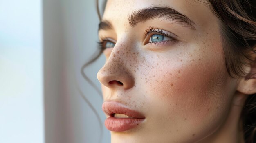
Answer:
<svg viewBox="0 0 256 143"><path fill-rule="evenodd" d="M114 101L104 102L102 110L109 116L105 120L105 126L110 131L124 132L130 130L137 127L145 119L141 113ZM125 114L132 118L115 118L114 114Z"/></svg>

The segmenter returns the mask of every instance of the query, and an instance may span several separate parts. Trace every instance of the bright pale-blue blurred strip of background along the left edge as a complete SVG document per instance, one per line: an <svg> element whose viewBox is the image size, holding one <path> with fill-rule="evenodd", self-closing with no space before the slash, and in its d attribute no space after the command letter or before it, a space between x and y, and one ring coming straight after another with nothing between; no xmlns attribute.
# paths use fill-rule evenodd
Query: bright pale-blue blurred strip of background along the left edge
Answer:
<svg viewBox="0 0 256 143"><path fill-rule="evenodd" d="M0 0L0 143L44 143L41 0Z"/></svg>

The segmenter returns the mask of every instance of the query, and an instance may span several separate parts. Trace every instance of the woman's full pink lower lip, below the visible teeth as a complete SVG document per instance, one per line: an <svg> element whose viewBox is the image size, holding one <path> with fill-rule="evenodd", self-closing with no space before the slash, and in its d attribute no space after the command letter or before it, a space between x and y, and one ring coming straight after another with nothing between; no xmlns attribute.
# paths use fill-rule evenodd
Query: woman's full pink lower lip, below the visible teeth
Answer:
<svg viewBox="0 0 256 143"><path fill-rule="evenodd" d="M108 117L105 120L105 126L108 130L114 132L124 132L136 128L144 118L115 118Z"/></svg>

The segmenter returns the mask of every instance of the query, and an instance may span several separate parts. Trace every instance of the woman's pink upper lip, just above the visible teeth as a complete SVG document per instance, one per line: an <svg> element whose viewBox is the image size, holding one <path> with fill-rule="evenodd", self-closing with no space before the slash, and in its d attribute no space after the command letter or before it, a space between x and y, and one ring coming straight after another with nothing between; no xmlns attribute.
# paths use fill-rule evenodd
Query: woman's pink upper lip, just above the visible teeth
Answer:
<svg viewBox="0 0 256 143"><path fill-rule="evenodd" d="M105 114L111 117L113 117L113 114L125 114L132 118L145 118L140 112L129 109L125 105L115 101L104 102L102 104L102 110Z"/></svg>

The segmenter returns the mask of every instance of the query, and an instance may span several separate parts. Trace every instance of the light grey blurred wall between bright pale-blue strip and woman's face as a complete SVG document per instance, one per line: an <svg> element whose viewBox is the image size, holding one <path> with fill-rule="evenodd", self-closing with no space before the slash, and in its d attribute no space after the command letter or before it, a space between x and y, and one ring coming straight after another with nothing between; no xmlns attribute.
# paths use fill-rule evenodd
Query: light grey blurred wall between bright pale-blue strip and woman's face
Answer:
<svg viewBox="0 0 256 143"><path fill-rule="evenodd" d="M110 143L102 97L80 73L97 49L98 23L96 0L43 1L45 143ZM103 63L84 70L98 88Z"/></svg>

